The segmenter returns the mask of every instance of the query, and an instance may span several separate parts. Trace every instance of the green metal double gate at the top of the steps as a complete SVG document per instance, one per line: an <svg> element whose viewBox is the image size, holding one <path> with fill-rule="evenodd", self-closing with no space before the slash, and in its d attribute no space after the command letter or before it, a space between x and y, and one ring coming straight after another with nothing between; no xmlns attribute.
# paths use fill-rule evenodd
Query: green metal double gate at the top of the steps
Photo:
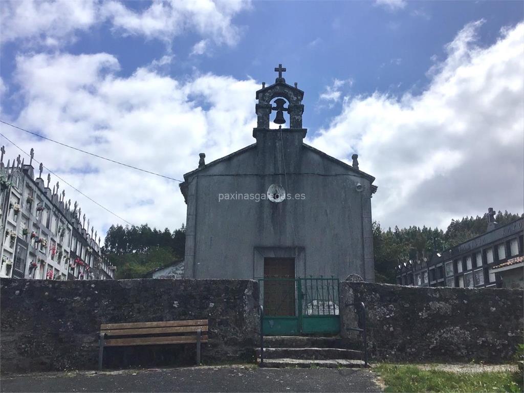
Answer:
<svg viewBox="0 0 524 393"><path fill-rule="evenodd" d="M264 335L339 333L338 279L263 278L258 284Z"/></svg>

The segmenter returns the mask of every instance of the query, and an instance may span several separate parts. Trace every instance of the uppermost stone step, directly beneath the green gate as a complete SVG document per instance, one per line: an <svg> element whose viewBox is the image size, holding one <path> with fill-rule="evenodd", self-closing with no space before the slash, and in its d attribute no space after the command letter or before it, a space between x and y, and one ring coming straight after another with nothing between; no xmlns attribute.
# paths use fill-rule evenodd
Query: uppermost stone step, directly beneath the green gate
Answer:
<svg viewBox="0 0 524 393"><path fill-rule="evenodd" d="M359 345L359 343L343 341L339 336L264 336L264 348L345 348L358 350Z"/></svg>

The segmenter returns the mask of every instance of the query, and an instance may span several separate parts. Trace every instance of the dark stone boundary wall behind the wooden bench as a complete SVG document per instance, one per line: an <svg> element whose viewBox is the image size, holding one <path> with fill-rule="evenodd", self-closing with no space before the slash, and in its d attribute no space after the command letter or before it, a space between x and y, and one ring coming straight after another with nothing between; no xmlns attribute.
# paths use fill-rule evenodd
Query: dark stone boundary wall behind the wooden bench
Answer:
<svg viewBox="0 0 524 393"><path fill-rule="evenodd" d="M253 280L0 280L2 373L96 369L100 324L209 319L204 364L253 361ZM104 366L194 365L195 344L109 347Z"/></svg>

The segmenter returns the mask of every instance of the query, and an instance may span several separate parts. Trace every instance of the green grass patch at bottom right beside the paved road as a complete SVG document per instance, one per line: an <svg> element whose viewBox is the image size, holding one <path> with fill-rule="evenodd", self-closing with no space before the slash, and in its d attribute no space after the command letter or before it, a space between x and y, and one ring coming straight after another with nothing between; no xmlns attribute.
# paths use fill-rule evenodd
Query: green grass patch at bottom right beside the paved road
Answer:
<svg viewBox="0 0 524 393"><path fill-rule="evenodd" d="M416 366L380 364L374 368L385 392L523 392L522 374L512 372L451 373Z"/></svg>

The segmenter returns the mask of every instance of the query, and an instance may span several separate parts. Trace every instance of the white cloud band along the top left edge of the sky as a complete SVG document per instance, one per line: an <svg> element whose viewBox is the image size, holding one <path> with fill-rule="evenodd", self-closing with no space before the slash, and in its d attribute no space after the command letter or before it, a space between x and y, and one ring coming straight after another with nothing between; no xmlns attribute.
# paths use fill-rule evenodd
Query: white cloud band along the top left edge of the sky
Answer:
<svg viewBox="0 0 524 393"><path fill-rule="evenodd" d="M24 40L30 45L58 47L67 45L75 33L110 21L117 34L138 35L171 43L184 32L195 32L218 45L235 45L239 28L233 17L249 7L235 1L154 1L135 11L126 3L95 0L56 0L35 2L3 1L2 41Z"/></svg>

